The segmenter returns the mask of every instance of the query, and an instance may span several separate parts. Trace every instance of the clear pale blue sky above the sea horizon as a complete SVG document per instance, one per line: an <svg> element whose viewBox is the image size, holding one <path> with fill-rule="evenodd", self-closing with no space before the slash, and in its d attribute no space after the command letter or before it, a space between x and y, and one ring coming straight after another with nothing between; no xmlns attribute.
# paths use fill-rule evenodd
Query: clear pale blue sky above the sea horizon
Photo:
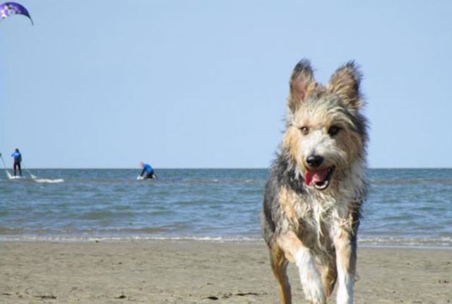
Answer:
<svg viewBox="0 0 452 304"><path fill-rule="evenodd" d="M266 168L302 57L362 66L371 168L452 167L452 1L20 3L0 151L30 168Z"/></svg>

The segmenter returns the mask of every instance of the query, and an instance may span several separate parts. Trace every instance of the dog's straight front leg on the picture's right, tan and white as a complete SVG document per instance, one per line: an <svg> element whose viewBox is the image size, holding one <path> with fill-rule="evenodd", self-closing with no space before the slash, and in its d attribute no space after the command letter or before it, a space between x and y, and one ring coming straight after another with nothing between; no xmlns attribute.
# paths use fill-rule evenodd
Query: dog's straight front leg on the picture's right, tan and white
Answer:
<svg viewBox="0 0 452 304"><path fill-rule="evenodd" d="M352 233L339 227L336 230L334 245L336 250L336 267L338 269L338 304L353 303L353 286L355 285L356 238Z"/></svg>

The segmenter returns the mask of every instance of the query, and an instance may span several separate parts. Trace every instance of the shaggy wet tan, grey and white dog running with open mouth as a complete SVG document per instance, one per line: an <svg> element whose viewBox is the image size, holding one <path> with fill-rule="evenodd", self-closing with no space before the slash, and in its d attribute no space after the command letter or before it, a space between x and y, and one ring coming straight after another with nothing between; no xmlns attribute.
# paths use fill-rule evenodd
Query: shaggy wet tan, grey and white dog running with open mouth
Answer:
<svg viewBox="0 0 452 304"><path fill-rule="evenodd" d="M290 78L283 141L265 186L261 228L280 303L292 303L286 269L295 262L304 295L353 303L360 209L367 194L367 119L355 62L328 83L302 59Z"/></svg>

